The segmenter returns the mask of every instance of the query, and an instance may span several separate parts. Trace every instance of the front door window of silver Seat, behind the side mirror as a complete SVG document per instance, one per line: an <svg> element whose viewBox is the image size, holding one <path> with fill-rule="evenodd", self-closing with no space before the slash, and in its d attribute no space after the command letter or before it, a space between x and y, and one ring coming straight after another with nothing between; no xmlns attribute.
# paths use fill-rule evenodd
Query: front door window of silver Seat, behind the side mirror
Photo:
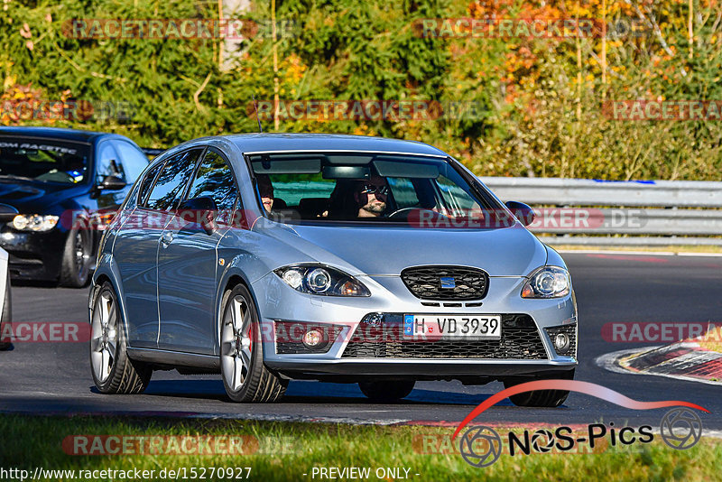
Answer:
<svg viewBox="0 0 722 482"><path fill-rule="evenodd" d="M218 209L230 211L236 203L236 182L233 171L223 158L208 151L200 162L196 179L190 186L188 199L208 196L216 201Z"/></svg>

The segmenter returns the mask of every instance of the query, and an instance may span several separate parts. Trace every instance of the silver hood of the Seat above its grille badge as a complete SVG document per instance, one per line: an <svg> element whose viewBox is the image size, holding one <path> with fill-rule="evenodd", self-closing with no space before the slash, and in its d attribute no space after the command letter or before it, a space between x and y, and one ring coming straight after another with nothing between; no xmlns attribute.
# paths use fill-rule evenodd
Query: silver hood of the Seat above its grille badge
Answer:
<svg viewBox="0 0 722 482"><path fill-rule="evenodd" d="M424 264L483 269L490 276L525 276L546 263L544 245L516 224L500 229L265 225L260 231L349 274L399 275Z"/></svg>

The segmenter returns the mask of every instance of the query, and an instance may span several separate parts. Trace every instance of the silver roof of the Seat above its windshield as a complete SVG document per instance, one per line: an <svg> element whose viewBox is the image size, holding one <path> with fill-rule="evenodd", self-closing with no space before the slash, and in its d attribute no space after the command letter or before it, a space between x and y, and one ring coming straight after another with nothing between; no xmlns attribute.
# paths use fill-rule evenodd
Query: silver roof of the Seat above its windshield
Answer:
<svg viewBox="0 0 722 482"><path fill-rule="evenodd" d="M224 135L243 153L280 151L375 151L448 156L429 144L347 134L231 134Z"/></svg>

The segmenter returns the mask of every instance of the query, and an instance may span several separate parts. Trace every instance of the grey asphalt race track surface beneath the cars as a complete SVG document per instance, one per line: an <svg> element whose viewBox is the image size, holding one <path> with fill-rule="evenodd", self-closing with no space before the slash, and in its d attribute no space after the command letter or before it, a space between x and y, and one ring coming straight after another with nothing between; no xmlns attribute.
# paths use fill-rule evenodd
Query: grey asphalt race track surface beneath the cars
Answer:
<svg viewBox="0 0 722 482"><path fill-rule="evenodd" d="M611 343L600 333L612 321L722 322L722 257L565 254L579 304L578 380L593 382L644 402L684 400L707 408L705 429L722 430L718 385L606 371L595 358L654 343ZM88 290L47 285L13 286L14 321L84 321ZM659 343L656 343L659 344ZM227 399L220 375L155 372L144 394L97 393L87 343L15 343L0 352L0 412L138 412L275 420L362 423L445 422L456 425L478 403L504 388L498 382L464 386L422 382L399 403L370 403L357 385L291 382L281 403L241 404ZM556 409L521 408L508 399L475 422L491 424L588 424L615 422L659 426L666 409L634 411L587 394L572 393Z"/></svg>

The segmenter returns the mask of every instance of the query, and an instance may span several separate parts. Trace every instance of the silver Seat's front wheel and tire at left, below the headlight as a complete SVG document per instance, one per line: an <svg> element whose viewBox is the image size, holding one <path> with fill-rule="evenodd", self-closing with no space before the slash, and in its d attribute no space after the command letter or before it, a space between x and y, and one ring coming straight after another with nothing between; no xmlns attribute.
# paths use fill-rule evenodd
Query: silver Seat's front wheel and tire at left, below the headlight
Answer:
<svg viewBox="0 0 722 482"><path fill-rule="evenodd" d="M286 392L288 381L264 365L261 323L251 293L236 285L223 297L220 371L234 402L271 403Z"/></svg>

